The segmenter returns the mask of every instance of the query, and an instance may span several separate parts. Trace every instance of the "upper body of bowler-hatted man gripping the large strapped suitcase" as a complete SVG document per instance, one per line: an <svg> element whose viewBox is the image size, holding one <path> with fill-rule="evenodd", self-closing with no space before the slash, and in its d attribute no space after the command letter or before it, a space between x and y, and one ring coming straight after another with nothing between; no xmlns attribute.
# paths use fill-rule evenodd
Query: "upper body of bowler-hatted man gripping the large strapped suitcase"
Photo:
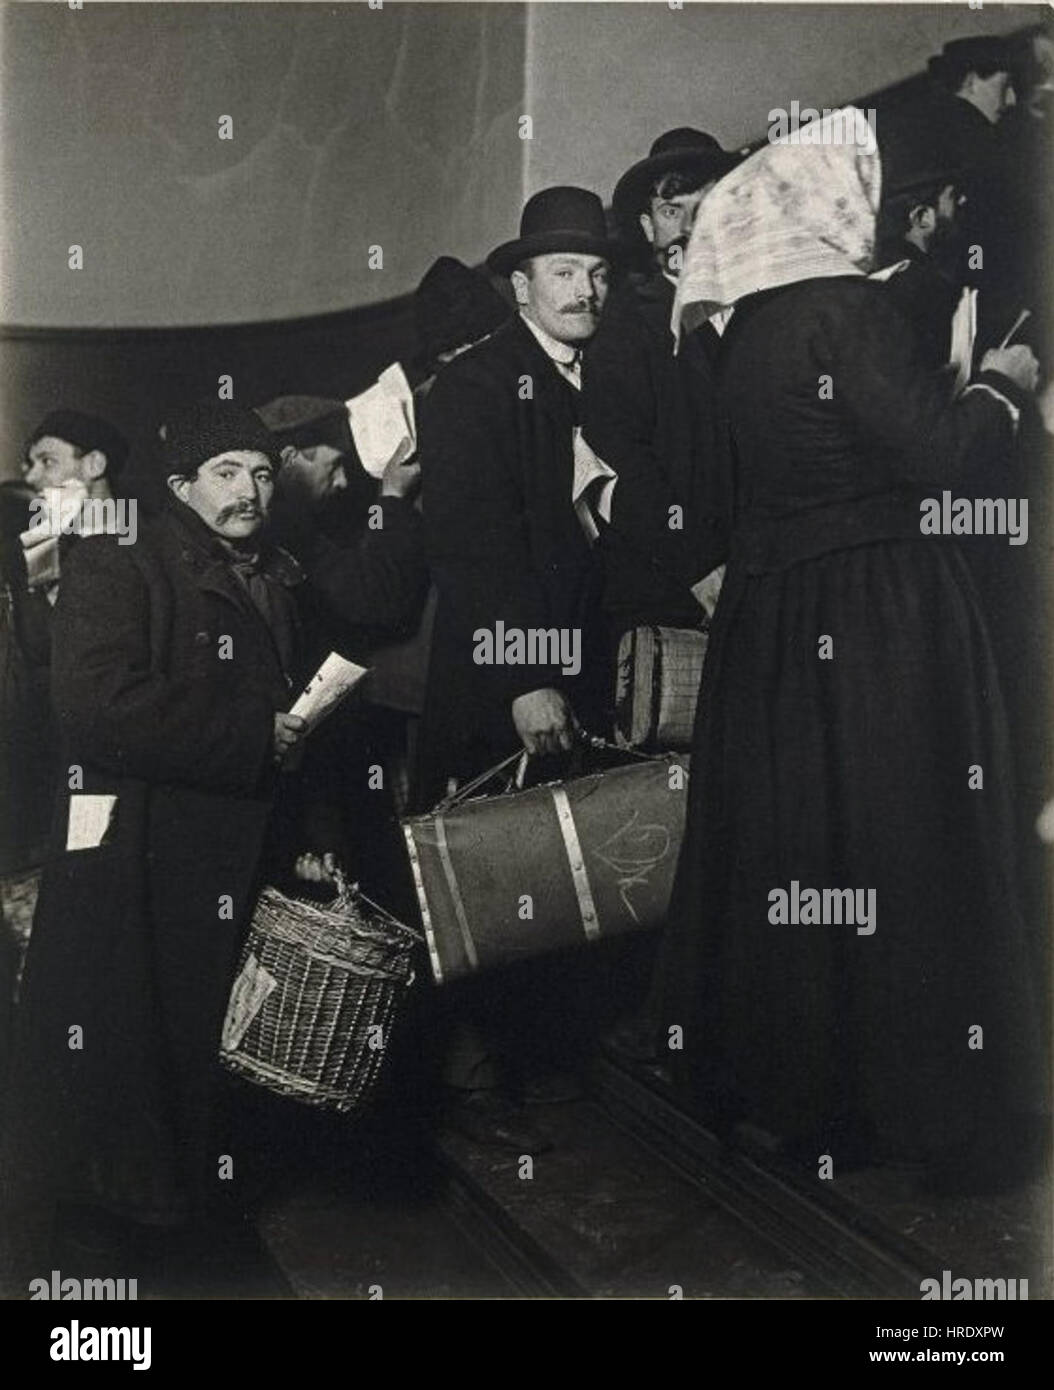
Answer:
<svg viewBox="0 0 1054 1390"><path fill-rule="evenodd" d="M476 664L473 634L499 621L584 637L595 628L595 555L573 505L574 431L610 254L595 193L535 193L519 238L488 259L509 277L519 313L452 361L428 402L423 507L439 602L427 723L441 783L473 777L517 745L567 752L576 717L597 713L584 674Z"/></svg>

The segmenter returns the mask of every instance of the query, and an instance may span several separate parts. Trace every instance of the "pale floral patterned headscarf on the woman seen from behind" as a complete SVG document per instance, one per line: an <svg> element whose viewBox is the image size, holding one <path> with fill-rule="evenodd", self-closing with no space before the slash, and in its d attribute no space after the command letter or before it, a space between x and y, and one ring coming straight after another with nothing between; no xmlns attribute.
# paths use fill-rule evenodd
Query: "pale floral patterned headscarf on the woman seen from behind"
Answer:
<svg viewBox="0 0 1054 1390"><path fill-rule="evenodd" d="M880 183L873 132L852 106L756 150L699 206L673 303L674 338L759 289L866 275Z"/></svg>

